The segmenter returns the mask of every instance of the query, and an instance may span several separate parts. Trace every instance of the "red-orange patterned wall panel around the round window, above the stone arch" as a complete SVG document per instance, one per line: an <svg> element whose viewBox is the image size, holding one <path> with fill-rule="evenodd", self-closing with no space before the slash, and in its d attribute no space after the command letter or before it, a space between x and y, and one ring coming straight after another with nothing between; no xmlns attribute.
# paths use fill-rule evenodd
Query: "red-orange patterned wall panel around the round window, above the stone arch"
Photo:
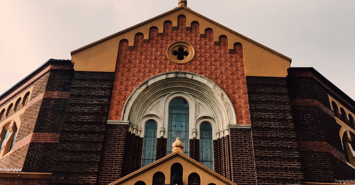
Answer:
<svg viewBox="0 0 355 185"><path fill-rule="evenodd" d="M133 48L128 46L127 40L120 41L109 120L121 120L127 98L144 80L168 71L189 71L217 83L229 96L238 123L250 124L241 44L235 44L234 51L229 51L226 36L220 36L219 42L215 43L211 29L200 36L197 22L191 24L191 29L186 29L186 26L185 16L179 16L177 28L172 27L170 21L164 23L164 30L152 27L149 40L144 40L140 33L136 34ZM163 35L159 35L158 31L163 31ZM192 61L176 64L167 58L166 48L174 41L186 41L193 45L196 54Z"/></svg>

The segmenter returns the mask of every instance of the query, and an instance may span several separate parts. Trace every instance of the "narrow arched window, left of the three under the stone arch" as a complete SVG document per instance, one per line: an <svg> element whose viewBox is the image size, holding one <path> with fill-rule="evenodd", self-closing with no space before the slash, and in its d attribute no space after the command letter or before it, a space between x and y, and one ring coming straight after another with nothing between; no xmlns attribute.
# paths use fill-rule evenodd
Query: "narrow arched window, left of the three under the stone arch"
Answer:
<svg viewBox="0 0 355 185"><path fill-rule="evenodd" d="M142 167L155 161L157 148L157 123L148 121L144 128Z"/></svg>

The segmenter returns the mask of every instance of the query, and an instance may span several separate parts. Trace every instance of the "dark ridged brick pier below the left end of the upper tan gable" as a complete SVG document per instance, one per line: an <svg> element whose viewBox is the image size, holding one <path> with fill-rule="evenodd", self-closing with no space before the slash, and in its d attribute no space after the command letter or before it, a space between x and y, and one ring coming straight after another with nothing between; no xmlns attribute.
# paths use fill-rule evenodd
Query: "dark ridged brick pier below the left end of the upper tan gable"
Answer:
<svg viewBox="0 0 355 185"><path fill-rule="evenodd" d="M114 73L75 72L51 183L97 183L113 77Z"/></svg>

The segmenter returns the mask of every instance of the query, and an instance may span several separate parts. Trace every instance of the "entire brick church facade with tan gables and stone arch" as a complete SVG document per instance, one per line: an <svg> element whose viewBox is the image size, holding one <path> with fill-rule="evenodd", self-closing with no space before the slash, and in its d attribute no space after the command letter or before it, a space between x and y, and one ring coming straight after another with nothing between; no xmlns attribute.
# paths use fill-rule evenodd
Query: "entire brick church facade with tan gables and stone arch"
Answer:
<svg viewBox="0 0 355 185"><path fill-rule="evenodd" d="M355 184L354 100L186 0L71 55L0 96L0 184Z"/></svg>

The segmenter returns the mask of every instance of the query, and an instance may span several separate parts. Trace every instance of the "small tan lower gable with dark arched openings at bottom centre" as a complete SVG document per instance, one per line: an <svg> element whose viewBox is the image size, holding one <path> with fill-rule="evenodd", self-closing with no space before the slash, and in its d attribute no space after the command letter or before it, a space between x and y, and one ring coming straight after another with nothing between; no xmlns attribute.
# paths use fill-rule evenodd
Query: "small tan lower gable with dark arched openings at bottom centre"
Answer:
<svg viewBox="0 0 355 185"><path fill-rule="evenodd" d="M110 185L133 185L137 181L143 181L146 185L149 185L152 184L153 175L157 172L162 172L165 176L165 184L170 184L170 168L174 163L180 163L183 167L183 184L188 184L187 179L191 173L197 173L200 175L201 184L207 185L209 183L214 183L235 185L235 183L224 178L222 175L219 175L211 169L203 166L201 163L196 162L192 158L180 154L179 152L169 154L148 166L116 180Z"/></svg>

